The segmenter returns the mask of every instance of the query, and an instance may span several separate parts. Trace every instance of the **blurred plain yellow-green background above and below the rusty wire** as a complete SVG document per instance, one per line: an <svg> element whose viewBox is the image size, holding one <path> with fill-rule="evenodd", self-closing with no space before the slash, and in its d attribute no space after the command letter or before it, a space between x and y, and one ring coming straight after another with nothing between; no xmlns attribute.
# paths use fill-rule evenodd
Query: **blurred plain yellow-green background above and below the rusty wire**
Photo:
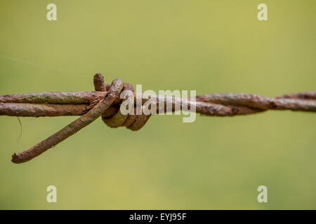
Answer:
<svg viewBox="0 0 316 224"><path fill-rule="evenodd" d="M313 0L1 0L0 95L93 90L97 72L155 91L315 90L315 22ZM153 116L139 132L96 120L11 162L74 119L20 118L17 141L18 119L0 117L0 209L316 209L313 113ZM46 202L50 185L57 203ZM257 202L261 185L268 203Z"/></svg>

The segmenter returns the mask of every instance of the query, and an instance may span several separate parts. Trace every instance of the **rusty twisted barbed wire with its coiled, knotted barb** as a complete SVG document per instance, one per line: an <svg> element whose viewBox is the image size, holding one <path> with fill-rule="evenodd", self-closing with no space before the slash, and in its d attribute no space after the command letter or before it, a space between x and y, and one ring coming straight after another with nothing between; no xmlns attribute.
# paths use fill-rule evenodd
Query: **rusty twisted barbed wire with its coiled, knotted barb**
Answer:
<svg viewBox="0 0 316 224"><path fill-rule="evenodd" d="M126 99L120 99L122 90L133 92L137 99L133 85L123 83L121 79L106 84L100 73L93 78L95 90L93 92L39 92L27 94L10 94L0 96L0 116L22 117L54 117L81 116L74 122L62 128L39 144L22 153L14 153L12 162L21 163L32 160L49 148L72 136L86 127L98 117L109 127L127 127L137 131L142 128L151 115L143 113L143 106L134 105L134 111L140 114L122 114L120 105ZM157 113L167 112L166 104L171 104L171 111L189 110L195 107L197 113L206 116L237 116L260 113L267 110L291 110L316 112L316 91L286 94L281 97L269 98L257 94L224 93L204 94L192 99L186 99L187 108L181 104L183 99L166 96L146 96L142 94L142 105L149 99L156 98ZM159 106L163 103L163 108ZM180 108L176 104L180 103Z"/></svg>

